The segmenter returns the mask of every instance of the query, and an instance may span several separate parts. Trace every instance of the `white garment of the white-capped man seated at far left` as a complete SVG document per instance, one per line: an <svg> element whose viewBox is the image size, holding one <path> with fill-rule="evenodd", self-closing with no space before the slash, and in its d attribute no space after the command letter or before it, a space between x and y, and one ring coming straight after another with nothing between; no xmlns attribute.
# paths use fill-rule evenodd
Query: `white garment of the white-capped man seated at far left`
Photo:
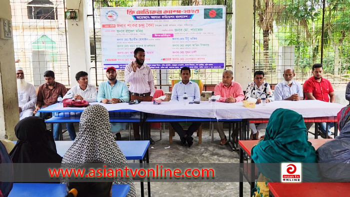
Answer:
<svg viewBox="0 0 350 197"><path fill-rule="evenodd" d="M23 90L17 90L18 106L22 111L26 109L35 109L36 91L34 85L26 82L26 87Z"/></svg>

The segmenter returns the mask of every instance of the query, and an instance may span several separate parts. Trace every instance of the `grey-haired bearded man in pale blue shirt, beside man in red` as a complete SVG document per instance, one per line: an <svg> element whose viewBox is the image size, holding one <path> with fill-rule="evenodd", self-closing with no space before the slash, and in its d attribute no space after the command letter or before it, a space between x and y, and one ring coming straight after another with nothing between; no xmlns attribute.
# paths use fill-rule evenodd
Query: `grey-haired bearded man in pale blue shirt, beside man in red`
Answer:
<svg viewBox="0 0 350 197"><path fill-rule="evenodd" d="M293 68L286 68L283 72L284 81L274 87L275 100L302 100L302 86L299 82L293 80L295 76Z"/></svg>

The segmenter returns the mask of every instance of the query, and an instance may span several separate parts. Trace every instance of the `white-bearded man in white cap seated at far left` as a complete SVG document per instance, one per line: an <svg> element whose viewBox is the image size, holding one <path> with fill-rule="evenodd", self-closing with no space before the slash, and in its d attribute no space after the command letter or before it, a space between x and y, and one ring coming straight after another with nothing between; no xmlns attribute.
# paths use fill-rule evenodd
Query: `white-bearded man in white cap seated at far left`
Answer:
<svg viewBox="0 0 350 197"><path fill-rule="evenodd" d="M36 102L34 85L24 79L22 67L16 67L19 120L33 115Z"/></svg>

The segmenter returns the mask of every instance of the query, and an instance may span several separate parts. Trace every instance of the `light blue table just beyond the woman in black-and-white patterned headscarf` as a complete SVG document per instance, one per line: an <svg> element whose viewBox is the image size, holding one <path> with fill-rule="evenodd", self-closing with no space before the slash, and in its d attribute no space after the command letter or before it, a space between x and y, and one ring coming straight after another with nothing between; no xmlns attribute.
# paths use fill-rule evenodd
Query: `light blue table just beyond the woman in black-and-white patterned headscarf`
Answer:
<svg viewBox="0 0 350 197"><path fill-rule="evenodd" d="M17 141L13 141L16 143ZM60 156L64 156L65 152L71 146L74 141L54 141L56 144L57 153ZM125 155L127 160L138 159L139 163L145 162L149 163L148 146L149 141L116 141L121 152ZM135 148L137 147L137 148ZM147 181L148 196L150 196L150 182ZM144 196L143 181L141 181L141 196Z"/></svg>

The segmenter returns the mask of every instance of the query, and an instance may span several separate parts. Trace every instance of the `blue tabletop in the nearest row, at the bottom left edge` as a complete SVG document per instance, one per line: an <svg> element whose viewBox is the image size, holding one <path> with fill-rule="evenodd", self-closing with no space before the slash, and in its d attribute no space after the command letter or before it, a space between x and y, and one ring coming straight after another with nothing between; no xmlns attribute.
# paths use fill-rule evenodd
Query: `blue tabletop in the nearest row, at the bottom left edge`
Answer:
<svg viewBox="0 0 350 197"><path fill-rule="evenodd" d="M129 189L130 185L128 184L113 184L112 197L125 197ZM12 190L8 194L8 197L62 197L66 194L66 185L61 183L13 183Z"/></svg>

